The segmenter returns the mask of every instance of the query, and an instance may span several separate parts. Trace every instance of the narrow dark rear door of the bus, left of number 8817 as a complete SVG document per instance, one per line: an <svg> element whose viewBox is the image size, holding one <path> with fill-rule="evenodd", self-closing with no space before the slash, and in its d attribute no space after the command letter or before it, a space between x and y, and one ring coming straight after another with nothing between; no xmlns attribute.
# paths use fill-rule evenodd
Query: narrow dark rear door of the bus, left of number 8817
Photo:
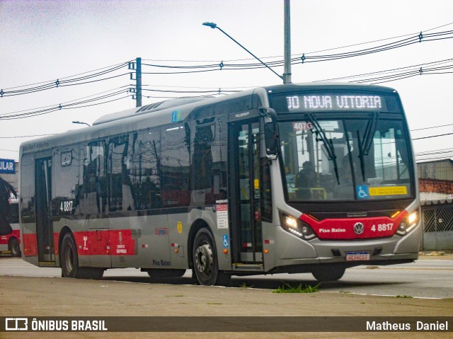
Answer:
<svg viewBox="0 0 453 339"><path fill-rule="evenodd" d="M52 158L35 160L36 240L38 262L55 263L52 224Z"/></svg>

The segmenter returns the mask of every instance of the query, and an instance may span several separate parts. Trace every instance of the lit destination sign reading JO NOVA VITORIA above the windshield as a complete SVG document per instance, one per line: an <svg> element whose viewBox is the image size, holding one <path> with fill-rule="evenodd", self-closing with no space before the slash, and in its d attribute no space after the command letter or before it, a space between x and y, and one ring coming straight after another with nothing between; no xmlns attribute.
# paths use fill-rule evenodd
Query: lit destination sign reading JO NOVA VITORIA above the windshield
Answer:
<svg viewBox="0 0 453 339"><path fill-rule="evenodd" d="M387 110L384 96L303 95L287 96L286 101L289 112L301 110Z"/></svg>

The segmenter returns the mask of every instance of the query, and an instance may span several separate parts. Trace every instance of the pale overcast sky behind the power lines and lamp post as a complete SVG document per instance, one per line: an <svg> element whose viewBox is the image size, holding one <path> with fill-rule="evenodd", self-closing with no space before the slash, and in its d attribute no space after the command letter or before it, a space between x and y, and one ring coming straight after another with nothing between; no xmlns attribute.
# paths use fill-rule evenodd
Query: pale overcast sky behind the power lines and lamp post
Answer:
<svg viewBox="0 0 453 339"><path fill-rule="evenodd" d="M420 31L424 36L452 31L452 14L451 0L292 0L292 55L300 57L304 53L309 57L352 52L411 38ZM206 21L217 23L266 62L282 59L283 0L0 0L0 88L4 93L11 93L57 79L74 79L76 74L102 71L105 67L137 57L141 57L144 64L166 66L256 62L219 30L203 26ZM393 37L398 38L384 40ZM442 35L442 38L448 39L427 41L423 38L420 43L384 52L294 64L292 81L319 81L408 66L429 69L432 65L453 65L453 33ZM357 45L362 42L370 43ZM344 46L350 47L331 50ZM319 52L323 50L327 51ZM447 61L428 64L442 60ZM404 70L396 71L396 74ZM143 66L142 71L175 70ZM283 69L276 67L275 71L282 74ZM423 72L421 76L382 84L400 93L414 139L448 134L453 130L453 125L449 125L453 124L453 69L436 72L444 74ZM0 98L0 158L18 160L21 142L33 139L23 136L84 128L84 125L71 122L79 120L91 124L102 115L135 107L132 98L122 98L127 96L127 85L134 84L129 75L118 76L125 73L128 73L127 67L88 80L117 76L105 81L59 86L18 96L5 94ZM245 89L282 83L268 69L143 74L142 82L146 85L144 88L164 91ZM11 113L36 112L42 107L57 107L59 104L69 108L71 106L67 104L70 102L79 103L86 98L97 98L101 95L98 93L116 91L124 93L87 103L89 106L86 108L4 120ZM95 94L98 95L93 96ZM161 101L162 98L157 96L176 94L144 91L143 95L145 105ZM187 95L196 94L178 94ZM112 99L119 100L92 105ZM437 127L441 125L449 126ZM437 128L419 130L425 127ZM453 135L430 137L414 140L414 149L416 154L453 150L452 144ZM453 157L453 151L425 158L439 156Z"/></svg>

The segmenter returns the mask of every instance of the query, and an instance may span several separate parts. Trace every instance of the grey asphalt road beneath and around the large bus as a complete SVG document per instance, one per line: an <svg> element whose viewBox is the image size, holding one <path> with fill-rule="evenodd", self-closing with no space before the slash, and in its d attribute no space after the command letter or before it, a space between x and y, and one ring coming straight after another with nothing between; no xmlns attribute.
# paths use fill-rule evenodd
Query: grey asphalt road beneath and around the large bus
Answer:
<svg viewBox="0 0 453 339"><path fill-rule="evenodd" d="M420 258L422 259L411 264L350 268L337 282L324 282L321 285L321 291L393 297L453 298L453 255L447 258ZM20 258L1 256L0 275L61 277L61 270L59 268L38 268ZM134 268L106 270L103 280L150 282L146 272L140 272ZM162 282L173 285L193 284L189 270L181 278L171 278L162 280ZM234 276L231 279L231 287L276 289L284 282L293 286L317 284L311 274L304 273Z"/></svg>

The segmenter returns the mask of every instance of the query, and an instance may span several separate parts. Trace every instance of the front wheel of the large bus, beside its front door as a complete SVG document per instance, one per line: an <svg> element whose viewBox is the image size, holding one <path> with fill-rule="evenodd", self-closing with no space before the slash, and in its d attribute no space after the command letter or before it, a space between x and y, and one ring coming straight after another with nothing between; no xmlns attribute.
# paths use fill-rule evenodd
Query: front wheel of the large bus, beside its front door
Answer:
<svg viewBox="0 0 453 339"><path fill-rule="evenodd" d="M229 275L219 271L214 238L207 229L197 231L193 241L193 272L200 285L226 285Z"/></svg>

